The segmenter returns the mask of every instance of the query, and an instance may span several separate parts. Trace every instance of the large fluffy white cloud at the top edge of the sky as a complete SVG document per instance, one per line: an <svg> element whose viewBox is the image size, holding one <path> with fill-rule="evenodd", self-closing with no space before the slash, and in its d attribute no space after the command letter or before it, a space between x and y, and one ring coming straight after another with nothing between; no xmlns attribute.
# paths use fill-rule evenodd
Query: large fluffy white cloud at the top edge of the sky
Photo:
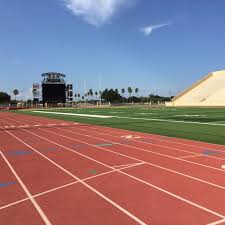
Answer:
<svg viewBox="0 0 225 225"><path fill-rule="evenodd" d="M121 8L137 0L63 0L65 6L75 16L82 17L94 26L108 23Z"/></svg>

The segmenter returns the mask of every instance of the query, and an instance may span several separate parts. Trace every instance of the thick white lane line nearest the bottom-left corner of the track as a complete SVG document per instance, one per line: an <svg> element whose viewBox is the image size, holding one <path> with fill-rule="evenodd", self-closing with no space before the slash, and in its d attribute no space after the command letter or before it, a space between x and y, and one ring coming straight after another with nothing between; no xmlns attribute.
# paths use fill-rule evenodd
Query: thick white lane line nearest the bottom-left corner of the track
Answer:
<svg viewBox="0 0 225 225"><path fill-rule="evenodd" d="M36 208L37 212L39 213L39 215L41 216L41 218L43 219L45 224L46 225L51 225L51 222L48 220L47 216L42 211L41 207L38 205L36 200L32 197L31 193L29 192L29 190L27 189L27 187L25 186L23 181L20 179L20 177L17 175L16 171L13 169L12 165L6 159L6 157L4 156L2 151L0 151L0 154L1 154L2 158L4 159L4 161L6 162L6 164L8 165L8 167L10 168L10 170L12 171L12 173L14 174L14 176L16 177L16 179L18 180L18 182L20 183L20 185L23 188L24 192L27 194L29 200L33 203L34 207Z"/></svg>

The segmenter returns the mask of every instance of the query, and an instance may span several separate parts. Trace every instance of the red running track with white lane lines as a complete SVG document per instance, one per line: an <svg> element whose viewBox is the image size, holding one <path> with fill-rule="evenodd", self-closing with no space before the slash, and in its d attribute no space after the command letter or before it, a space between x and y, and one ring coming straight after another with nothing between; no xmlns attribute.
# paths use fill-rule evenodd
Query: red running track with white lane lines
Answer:
<svg viewBox="0 0 225 225"><path fill-rule="evenodd" d="M225 224L225 146L0 113L0 224Z"/></svg>

